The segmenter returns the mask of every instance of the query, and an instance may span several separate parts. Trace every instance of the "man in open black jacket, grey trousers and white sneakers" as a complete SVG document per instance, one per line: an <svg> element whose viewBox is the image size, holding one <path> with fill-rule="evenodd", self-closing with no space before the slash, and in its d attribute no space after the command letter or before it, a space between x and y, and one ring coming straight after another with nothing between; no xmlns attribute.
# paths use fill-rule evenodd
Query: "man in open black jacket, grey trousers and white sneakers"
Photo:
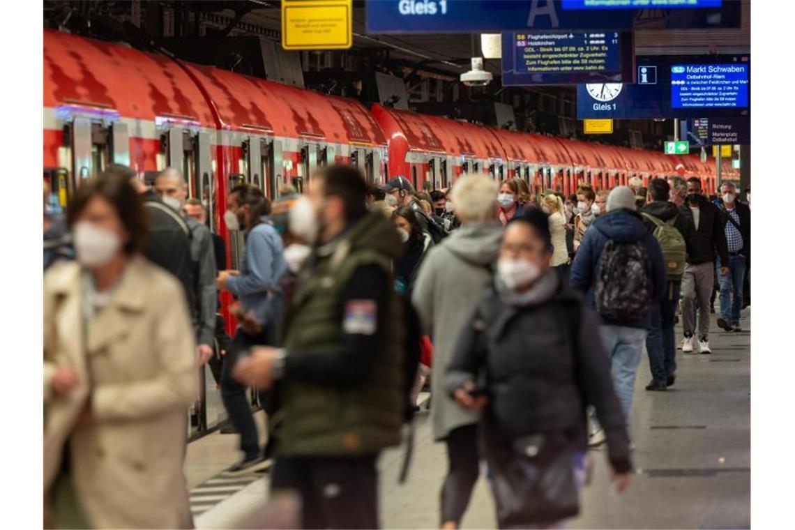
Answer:
<svg viewBox="0 0 795 530"><path fill-rule="evenodd" d="M692 219L696 230L688 246L688 263L682 277L682 327L684 340L682 353L693 352L696 331L696 308L699 304L699 348L702 354L711 354L709 349L709 299L715 283L715 255L720 260L721 276L729 273L729 255L726 250L726 234L723 231L723 216L714 204L701 192L701 180L697 176L688 179L688 195L681 207L683 215Z"/></svg>

